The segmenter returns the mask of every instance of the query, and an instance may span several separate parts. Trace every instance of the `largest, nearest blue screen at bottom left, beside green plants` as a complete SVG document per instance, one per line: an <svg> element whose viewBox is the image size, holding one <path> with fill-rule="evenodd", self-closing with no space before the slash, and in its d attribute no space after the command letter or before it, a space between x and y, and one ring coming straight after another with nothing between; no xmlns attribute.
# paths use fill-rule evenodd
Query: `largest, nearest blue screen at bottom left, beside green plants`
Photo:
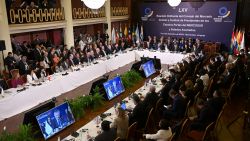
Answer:
<svg viewBox="0 0 250 141"><path fill-rule="evenodd" d="M36 116L36 119L45 140L75 122L67 102Z"/></svg>

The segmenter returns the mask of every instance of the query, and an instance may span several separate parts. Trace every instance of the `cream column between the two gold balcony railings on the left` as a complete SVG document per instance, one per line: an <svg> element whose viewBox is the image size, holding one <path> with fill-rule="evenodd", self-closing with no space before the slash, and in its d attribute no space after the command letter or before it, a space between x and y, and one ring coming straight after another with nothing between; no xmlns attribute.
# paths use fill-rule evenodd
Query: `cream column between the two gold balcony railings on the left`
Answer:
<svg viewBox="0 0 250 141"><path fill-rule="evenodd" d="M61 0L62 7L64 8L66 27L64 28L64 44L70 48L74 46L74 30L72 19L72 4L71 0Z"/></svg>

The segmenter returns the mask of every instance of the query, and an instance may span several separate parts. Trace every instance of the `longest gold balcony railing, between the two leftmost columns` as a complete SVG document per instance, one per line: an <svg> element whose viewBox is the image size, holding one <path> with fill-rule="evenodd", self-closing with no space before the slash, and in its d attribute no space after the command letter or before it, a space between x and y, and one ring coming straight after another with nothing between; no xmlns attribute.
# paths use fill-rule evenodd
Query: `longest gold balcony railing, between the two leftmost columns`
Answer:
<svg viewBox="0 0 250 141"><path fill-rule="evenodd" d="M9 23L39 23L65 20L63 8L51 9L10 9Z"/></svg>

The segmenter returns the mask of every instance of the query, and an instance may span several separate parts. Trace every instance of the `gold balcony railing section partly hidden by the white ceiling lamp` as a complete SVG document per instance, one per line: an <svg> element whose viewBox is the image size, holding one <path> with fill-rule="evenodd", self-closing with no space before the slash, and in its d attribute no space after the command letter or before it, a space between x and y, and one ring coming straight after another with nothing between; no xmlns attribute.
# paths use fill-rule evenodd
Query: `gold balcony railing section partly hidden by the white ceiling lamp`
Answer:
<svg viewBox="0 0 250 141"><path fill-rule="evenodd" d="M91 19L105 17L105 7L97 10L90 8L73 8L73 19Z"/></svg>

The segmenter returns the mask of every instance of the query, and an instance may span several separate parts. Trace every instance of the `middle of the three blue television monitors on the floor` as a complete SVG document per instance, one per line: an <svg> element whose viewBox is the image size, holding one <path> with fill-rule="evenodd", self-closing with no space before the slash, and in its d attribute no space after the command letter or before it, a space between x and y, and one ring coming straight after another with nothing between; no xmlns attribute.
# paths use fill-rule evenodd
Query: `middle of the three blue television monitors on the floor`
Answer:
<svg viewBox="0 0 250 141"><path fill-rule="evenodd" d="M103 86L106 91L108 100L113 99L114 97L125 91L121 77L119 76L103 83Z"/></svg>

